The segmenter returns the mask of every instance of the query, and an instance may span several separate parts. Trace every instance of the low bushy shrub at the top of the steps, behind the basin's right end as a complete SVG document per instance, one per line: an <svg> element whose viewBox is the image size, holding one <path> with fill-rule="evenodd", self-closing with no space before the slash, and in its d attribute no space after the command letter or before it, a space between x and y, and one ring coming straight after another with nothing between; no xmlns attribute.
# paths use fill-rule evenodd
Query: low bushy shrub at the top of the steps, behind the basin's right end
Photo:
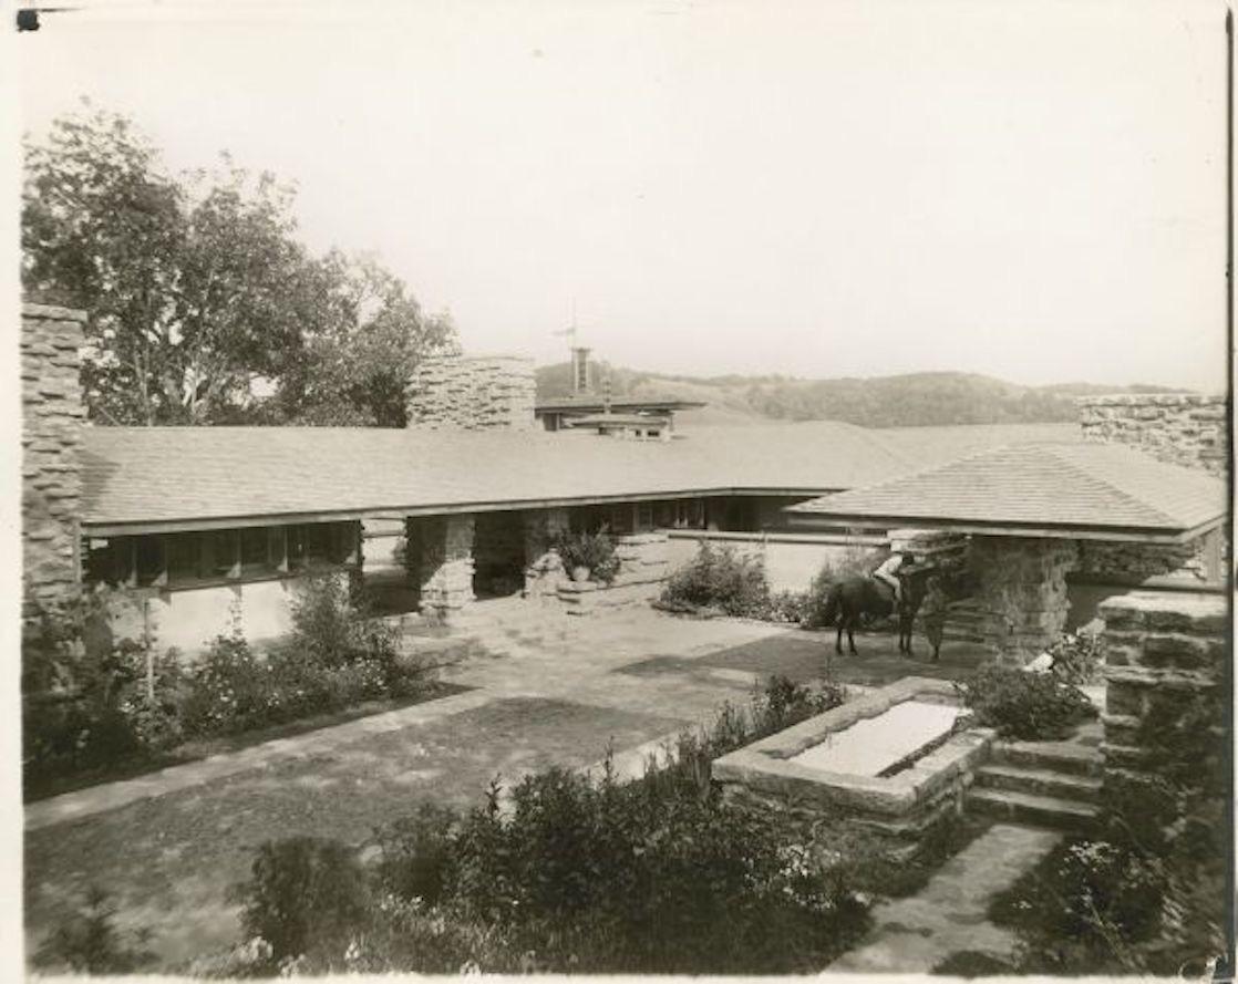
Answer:
<svg viewBox="0 0 1238 984"><path fill-rule="evenodd" d="M978 723L995 728L1003 738L1066 738L1098 713L1086 693L1051 673L984 666L954 687Z"/></svg>

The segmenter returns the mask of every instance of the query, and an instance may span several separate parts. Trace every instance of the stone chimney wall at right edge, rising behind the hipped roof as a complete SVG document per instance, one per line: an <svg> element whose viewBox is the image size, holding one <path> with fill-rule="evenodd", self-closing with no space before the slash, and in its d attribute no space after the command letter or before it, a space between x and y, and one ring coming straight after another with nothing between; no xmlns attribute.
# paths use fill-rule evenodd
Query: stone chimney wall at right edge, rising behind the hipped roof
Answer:
<svg viewBox="0 0 1238 984"><path fill-rule="evenodd" d="M1084 441L1130 444L1162 462L1226 474L1223 396L1138 394L1078 400Z"/></svg>

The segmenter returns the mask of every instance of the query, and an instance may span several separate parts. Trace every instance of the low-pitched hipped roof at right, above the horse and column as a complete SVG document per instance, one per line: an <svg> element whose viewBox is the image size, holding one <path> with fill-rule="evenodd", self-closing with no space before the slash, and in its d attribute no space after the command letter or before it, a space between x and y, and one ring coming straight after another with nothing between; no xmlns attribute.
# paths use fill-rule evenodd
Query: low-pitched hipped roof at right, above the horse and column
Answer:
<svg viewBox="0 0 1238 984"><path fill-rule="evenodd" d="M1182 540L1224 517L1226 485L1119 444L1032 443L982 451L787 511L801 522Z"/></svg>

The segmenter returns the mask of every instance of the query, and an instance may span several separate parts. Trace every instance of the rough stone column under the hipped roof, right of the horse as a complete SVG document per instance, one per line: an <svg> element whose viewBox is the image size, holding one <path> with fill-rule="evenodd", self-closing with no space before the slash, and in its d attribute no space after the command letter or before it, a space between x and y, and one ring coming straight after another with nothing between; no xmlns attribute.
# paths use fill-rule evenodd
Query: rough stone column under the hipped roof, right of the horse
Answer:
<svg viewBox="0 0 1238 984"><path fill-rule="evenodd" d="M1073 540L972 537L980 634L1003 662L1028 662L1062 631L1070 610L1066 573L1077 555Z"/></svg>

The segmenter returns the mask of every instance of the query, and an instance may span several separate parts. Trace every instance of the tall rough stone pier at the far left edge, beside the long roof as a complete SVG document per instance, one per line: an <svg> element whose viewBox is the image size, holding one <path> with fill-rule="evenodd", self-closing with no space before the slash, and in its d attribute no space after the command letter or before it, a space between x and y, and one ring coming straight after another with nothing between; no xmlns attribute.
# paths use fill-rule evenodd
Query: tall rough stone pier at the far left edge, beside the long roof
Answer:
<svg viewBox="0 0 1238 984"><path fill-rule="evenodd" d="M85 314L24 304L22 611L73 597L80 579L82 428L78 349Z"/></svg>

